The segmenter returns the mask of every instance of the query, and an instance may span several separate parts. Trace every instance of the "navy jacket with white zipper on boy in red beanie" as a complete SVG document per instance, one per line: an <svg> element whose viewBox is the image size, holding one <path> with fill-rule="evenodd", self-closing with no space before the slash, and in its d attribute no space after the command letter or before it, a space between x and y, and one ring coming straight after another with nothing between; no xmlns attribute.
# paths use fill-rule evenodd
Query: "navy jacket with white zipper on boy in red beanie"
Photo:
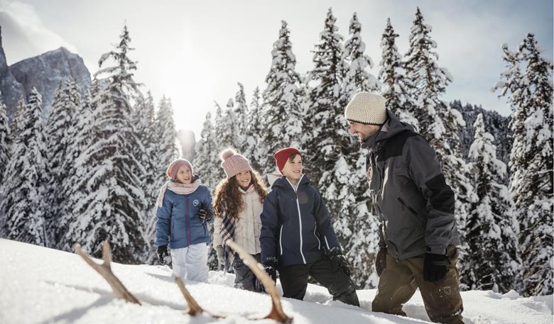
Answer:
<svg viewBox="0 0 554 324"><path fill-rule="evenodd" d="M281 177L264 201L261 213L261 262L278 259L279 266L306 264L320 259L339 240L321 195L305 175L298 189Z"/></svg>

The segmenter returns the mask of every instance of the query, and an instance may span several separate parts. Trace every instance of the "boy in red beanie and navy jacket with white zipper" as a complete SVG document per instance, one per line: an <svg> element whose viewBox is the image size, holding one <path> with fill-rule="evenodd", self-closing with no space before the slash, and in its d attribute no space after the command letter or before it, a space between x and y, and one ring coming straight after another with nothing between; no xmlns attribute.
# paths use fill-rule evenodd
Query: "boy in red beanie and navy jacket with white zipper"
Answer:
<svg viewBox="0 0 554 324"><path fill-rule="evenodd" d="M300 151L287 147L273 155L283 177L273 182L261 213L261 262L283 297L303 299L308 275L333 299L359 306L349 265L321 194L303 174Z"/></svg>

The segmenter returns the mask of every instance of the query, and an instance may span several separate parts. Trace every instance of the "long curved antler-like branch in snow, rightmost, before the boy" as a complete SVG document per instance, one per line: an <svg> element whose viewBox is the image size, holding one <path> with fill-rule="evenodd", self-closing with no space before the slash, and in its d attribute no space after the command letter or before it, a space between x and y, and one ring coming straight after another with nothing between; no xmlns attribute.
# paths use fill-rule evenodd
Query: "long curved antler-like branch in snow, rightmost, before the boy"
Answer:
<svg viewBox="0 0 554 324"><path fill-rule="evenodd" d="M276 320L281 323L292 323L293 318L288 317L283 311L283 306L281 306L281 296L279 296L279 293L277 292L275 282L270 276L268 276L268 274L266 274L261 264L259 264L256 259L249 255L249 253L242 247L240 247L240 245L233 242L233 240L227 240L226 244L239 254L239 257L244 260L244 264L246 264L252 272L254 272L258 279L260 279L261 284L263 284L266 289L266 292L269 296L271 296L271 312L269 312L269 315L265 318L271 318L272 320Z"/></svg>

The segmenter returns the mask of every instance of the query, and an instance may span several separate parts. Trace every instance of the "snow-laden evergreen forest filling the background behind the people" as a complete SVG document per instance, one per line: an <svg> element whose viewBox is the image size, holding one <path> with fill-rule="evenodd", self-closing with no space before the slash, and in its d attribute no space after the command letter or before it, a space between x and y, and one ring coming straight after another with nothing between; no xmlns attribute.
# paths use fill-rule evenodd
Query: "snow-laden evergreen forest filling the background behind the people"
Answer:
<svg viewBox="0 0 554 324"><path fill-rule="evenodd" d="M438 44L419 9L406 53L398 52L398 33L387 21L381 44L371 44L381 47L379 65L365 54L356 13L347 35L335 22L329 9L313 69L300 73L282 21L263 86L247 100L238 83L227 103L214 103L194 156L185 156L202 182L213 190L224 179L219 152L226 147L264 175L276 172L273 152L298 147L354 281L376 287L378 223L366 193L366 152L348 133L344 107L357 91L377 92L428 140L455 191L462 289L553 294L553 63L533 33L522 35L517 48L499 44L506 69L491 91L511 107L509 137L495 138L478 113L469 125L471 143L463 143L465 111L442 100L455 76L440 66ZM13 118L0 97L1 238L65 251L77 242L95 257L108 239L116 262L157 262L155 202L165 168L178 157L177 132L170 99L156 103L135 81L132 50L124 26L115 48L99 58L90 88L82 95L67 79L48 116L36 89L19 101ZM511 147L507 161L498 150L504 141ZM209 260L217 269L213 250Z"/></svg>

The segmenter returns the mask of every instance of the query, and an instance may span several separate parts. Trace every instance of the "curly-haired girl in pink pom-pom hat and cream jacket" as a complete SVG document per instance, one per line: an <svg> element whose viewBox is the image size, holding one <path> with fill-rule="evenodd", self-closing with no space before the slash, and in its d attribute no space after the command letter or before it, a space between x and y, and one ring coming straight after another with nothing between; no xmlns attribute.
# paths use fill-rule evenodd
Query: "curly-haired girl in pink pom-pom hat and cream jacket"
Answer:
<svg viewBox="0 0 554 324"><path fill-rule="evenodd" d="M264 208L267 191L261 177L250 167L242 155L232 149L221 153L221 166L227 174L215 189L214 249L219 264L227 270L232 262L235 288L249 291L256 289L256 276L240 257L230 255L225 241L232 239L260 261L260 214Z"/></svg>

